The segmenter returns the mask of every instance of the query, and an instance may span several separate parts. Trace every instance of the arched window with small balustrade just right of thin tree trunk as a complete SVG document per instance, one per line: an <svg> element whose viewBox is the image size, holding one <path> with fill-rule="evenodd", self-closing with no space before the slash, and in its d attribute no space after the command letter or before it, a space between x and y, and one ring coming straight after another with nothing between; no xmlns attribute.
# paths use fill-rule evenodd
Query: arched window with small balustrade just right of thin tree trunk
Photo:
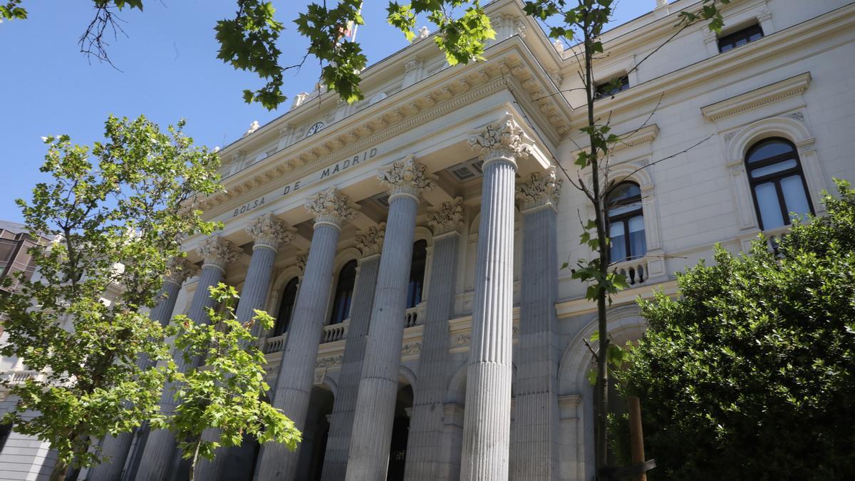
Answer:
<svg viewBox="0 0 855 481"><path fill-rule="evenodd" d="M644 256L647 241L638 184L622 182L611 189L605 209L609 217L610 261L622 262Z"/></svg>

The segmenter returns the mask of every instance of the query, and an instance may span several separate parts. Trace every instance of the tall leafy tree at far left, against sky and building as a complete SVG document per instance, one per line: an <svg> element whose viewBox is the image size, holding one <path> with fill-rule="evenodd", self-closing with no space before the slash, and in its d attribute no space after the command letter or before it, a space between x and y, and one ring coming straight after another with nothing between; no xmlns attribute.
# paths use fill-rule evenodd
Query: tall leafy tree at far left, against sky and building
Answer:
<svg viewBox="0 0 855 481"><path fill-rule="evenodd" d="M44 138L50 181L17 200L30 233L54 241L30 252L38 275L19 277L15 293L0 297L9 334L0 353L41 373L8 385L20 401L3 420L56 449L53 480L73 461L99 462L93 439L157 413L165 373L136 360L164 359L168 346L139 310L156 305L181 240L212 232L196 202L220 189L218 157L183 127L164 133L142 116L110 116L106 141L91 149L67 135Z"/></svg>

